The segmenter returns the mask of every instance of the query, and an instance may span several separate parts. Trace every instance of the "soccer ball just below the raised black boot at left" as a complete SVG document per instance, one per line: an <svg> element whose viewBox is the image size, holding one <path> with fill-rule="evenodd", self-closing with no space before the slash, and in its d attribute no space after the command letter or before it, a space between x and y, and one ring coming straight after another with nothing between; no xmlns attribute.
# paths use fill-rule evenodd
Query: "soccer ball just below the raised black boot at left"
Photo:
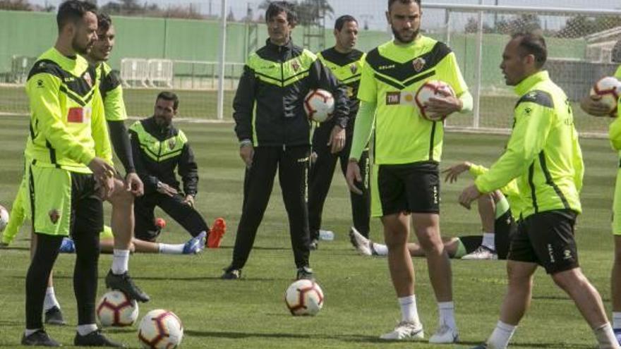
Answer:
<svg viewBox="0 0 621 349"><path fill-rule="evenodd" d="M102 326L131 326L138 319L138 303L120 290L111 290L97 303L97 318Z"/></svg>

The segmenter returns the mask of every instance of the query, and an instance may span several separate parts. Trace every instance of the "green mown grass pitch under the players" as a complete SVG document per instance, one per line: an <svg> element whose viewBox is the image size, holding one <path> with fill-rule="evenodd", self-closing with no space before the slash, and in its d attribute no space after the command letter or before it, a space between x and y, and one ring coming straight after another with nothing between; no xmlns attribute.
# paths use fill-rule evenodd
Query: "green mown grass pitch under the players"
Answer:
<svg viewBox="0 0 621 349"><path fill-rule="evenodd" d="M151 93L152 94L152 93ZM151 97L151 96L150 96ZM155 95L153 96L155 97ZM3 94L4 98L4 94ZM7 97L10 98L10 97ZM6 103L6 101L3 101ZM152 105L151 99L145 102ZM184 99L181 98L181 106ZM148 114L148 111L145 111ZM197 256L133 255L130 271L152 296L140 305L140 315L165 308L175 312L185 327L185 348L434 348L428 343L384 343L378 336L399 320L399 307L390 283L386 259L361 257L349 245L349 200L342 176L336 174L324 213L325 228L336 232L332 242L320 243L311 264L325 293L325 307L317 317L291 317L284 305L284 290L295 270L290 249L287 216L276 184L270 206L258 231L255 248L241 281L219 280L231 258L239 221L243 166L231 124L178 123L186 131L200 167L196 204L208 221L227 219L223 247ZM0 116L0 203L6 207L22 176L22 151L27 118ZM490 165L502 152L506 136L447 133L442 168L469 160ZM610 310L609 275L613 260L610 235L617 156L606 140L583 139L586 178L582 192L584 214L579 217L577 240L585 274L603 295ZM444 235L478 233L476 210L459 207L457 196L471 179L442 185ZM107 205L107 204L106 204ZM109 212L109 205L107 205ZM161 213L160 213L161 214ZM166 217L166 216L164 216ZM180 243L188 234L167 219L160 238ZM16 242L0 250L0 347L19 344L24 327L24 282L28 268L28 234L25 226ZM380 223L372 222L372 238L381 240ZM68 326L47 330L65 345L76 331L72 275L75 256L61 255L56 262L55 288ZM100 259L99 295L110 255ZM436 327L437 309L424 259L415 259L416 295L426 335ZM505 293L505 262L453 261L454 300L461 342L435 348L471 348L481 343L498 319ZM135 328L107 329L109 336L138 348ZM531 309L515 334L513 348L594 348L589 326L574 304L545 272L536 273Z"/></svg>

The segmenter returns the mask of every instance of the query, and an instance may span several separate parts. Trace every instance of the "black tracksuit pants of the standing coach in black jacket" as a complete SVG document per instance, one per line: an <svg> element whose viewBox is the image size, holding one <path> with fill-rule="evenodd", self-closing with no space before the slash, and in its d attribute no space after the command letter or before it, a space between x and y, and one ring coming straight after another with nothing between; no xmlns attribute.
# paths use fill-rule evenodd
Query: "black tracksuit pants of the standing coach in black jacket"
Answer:
<svg viewBox="0 0 621 349"><path fill-rule="evenodd" d="M270 201L276 170L284 207L289 216L289 234L296 267L308 267L308 207L306 192L310 147L255 147L253 165L246 169L243 205L237 228L231 269L246 264L263 214Z"/></svg>

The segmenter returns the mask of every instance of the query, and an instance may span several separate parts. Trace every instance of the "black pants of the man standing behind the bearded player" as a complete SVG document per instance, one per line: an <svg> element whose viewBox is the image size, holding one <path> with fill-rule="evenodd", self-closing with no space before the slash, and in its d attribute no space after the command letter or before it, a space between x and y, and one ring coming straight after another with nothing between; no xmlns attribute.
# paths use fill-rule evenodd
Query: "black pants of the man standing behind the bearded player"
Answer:
<svg viewBox="0 0 621 349"><path fill-rule="evenodd" d="M323 212L323 204L332 184L334 176L334 168L337 166L337 160L341 161L341 171L343 176L347 173L347 164L349 162L349 152L351 150L352 134L348 132L345 139L345 147L337 154L330 152L331 146L327 145L330 141L330 133L334 126L325 123L315 130L313 134L313 152L317 154L317 159L310 164L308 173L308 226L310 229L310 238L319 238L319 229L321 228L321 215ZM348 130L349 131L349 130ZM354 227L356 230L368 238L369 220L370 220L370 192L368 190L368 169L369 159L368 151L364 151L360 160L360 174L363 183L358 185L363 192L358 195L349 192L351 199L351 215L354 218Z"/></svg>

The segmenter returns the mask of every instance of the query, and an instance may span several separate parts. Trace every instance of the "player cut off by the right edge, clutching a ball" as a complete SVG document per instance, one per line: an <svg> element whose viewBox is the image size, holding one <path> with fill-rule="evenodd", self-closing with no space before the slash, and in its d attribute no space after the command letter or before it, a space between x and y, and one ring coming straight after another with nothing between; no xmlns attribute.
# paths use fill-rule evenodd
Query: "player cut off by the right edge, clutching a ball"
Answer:
<svg viewBox="0 0 621 349"><path fill-rule="evenodd" d="M615 59L621 63L621 40L617 42L617 55ZM621 80L621 66L617 68L615 77ZM581 104L582 110L593 116L613 116L610 115L608 106L599 102L599 99L593 97L585 97ZM615 121L610 123L608 136L610 144L619 153L621 159L621 99L617 106L617 115ZM613 263L613 271L610 274L610 298L613 300L613 331L615 337L621 344L621 168L617 171L617 182L615 184L615 199L613 202L613 236L615 240L615 262Z"/></svg>

